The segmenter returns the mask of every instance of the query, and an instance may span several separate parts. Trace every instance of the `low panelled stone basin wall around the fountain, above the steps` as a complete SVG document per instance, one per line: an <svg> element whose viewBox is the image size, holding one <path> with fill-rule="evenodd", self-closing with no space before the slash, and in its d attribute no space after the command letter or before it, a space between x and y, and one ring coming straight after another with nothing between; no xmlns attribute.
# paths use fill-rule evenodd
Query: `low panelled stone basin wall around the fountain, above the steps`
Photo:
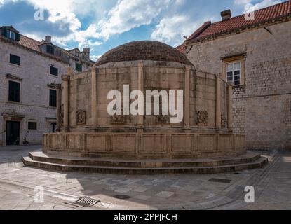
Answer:
<svg viewBox="0 0 291 224"><path fill-rule="evenodd" d="M44 135L43 151L59 155L119 159L219 158L245 153L245 136L234 134L56 133Z"/></svg>

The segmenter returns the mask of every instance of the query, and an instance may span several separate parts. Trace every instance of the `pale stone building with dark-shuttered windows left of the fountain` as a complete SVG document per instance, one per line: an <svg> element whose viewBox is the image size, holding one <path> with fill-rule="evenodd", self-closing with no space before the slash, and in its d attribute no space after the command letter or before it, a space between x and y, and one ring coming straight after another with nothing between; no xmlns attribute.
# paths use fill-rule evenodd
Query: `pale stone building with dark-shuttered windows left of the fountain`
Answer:
<svg viewBox="0 0 291 224"><path fill-rule="evenodd" d="M80 72L93 65L90 49L64 50L0 27L0 146L40 144L56 129L56 87L71 67Z"/></svg>

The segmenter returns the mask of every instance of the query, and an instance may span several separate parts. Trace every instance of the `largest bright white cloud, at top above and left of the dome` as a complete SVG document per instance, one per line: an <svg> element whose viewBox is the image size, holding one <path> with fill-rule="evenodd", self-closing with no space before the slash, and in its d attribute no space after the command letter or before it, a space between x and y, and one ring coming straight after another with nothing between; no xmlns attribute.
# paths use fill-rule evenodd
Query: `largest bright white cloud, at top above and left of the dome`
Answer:
<svg viewBox="0 0 291 224"><path fill-rule="evenodd" d="M9 1L9 0L0 0ZM13 0L11 0L13 1ZM21 1L21 0L14 0ZM100 1L98 4L93 0L27 0L34 6L45 8L49 11L49 22L61 22L69 24L71 34L63 37L54 37L53 41L65 46L69 41L77 41L79 48L87 46L93 48L107 41L114 34L122 34L130 29L149 25L160 15L162 10L168 8L170 2L176 4L184 0L119 0L116 5L106 13L102 20L95 22L85 30L81 30L81 22L78 15L96 13L94 10L102 8L107 1ZM90 7L92 6L92 7ZM61 27L60 27L61 28Z"/></svg>

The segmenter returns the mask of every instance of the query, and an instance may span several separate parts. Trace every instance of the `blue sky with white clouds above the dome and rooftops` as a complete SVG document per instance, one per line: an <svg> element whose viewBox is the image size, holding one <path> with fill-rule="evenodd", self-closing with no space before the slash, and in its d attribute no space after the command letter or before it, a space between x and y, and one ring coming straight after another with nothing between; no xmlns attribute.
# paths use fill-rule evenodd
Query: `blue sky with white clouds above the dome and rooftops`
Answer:
<svg viewBox="0 0 291 224"><path fill-rule="evenodd" d="M0 0L0 26L67 50L90 48L91 59L123 43L184 41L203 22L241 15L285 0Z"/></svg>

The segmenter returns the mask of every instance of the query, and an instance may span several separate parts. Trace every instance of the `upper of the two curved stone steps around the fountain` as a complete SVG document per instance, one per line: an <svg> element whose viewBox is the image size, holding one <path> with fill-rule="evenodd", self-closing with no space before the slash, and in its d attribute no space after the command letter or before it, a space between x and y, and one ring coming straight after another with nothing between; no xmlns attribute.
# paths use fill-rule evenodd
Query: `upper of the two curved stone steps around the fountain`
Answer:
<svg viewBox="0 0 291 224"><path fill-rule="evenodd" d="M81 165L81 166L101 166L101 167L136 167L136 168L154 168L154 167L214 167L224 165L237 165L255 162L261 155L248 152L245 155L234 158L220 159L180 159L180 160L122 160L122 159L104 159L104 158L79 158L61 155L49 155L43 152L29 153L32 160L41 162L50 162L63 165Z"/></svg>

